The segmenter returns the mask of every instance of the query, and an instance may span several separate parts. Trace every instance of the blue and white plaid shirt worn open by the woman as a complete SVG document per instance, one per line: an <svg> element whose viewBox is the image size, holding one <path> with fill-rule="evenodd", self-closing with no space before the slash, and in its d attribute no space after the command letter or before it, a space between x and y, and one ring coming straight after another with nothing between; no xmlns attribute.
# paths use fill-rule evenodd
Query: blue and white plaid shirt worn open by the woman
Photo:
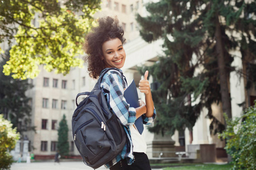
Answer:
<svg viewBox="0 0 256 170"><path fill-rule="evenodd" d="M101 88L108 101L109 109L117 115L125 132L127 134L127 143L122 152L111 162L105 164L106 168L112 167L121 159L127 160L127 164L133 163L133 142L131 141L130 125L133 125L136 120L136 110L133 107L129 107L126 103L125 97L123 97L124 88L127 87L126 81L122 79L122 70L109 70L102 78ZM151 124L156 117L156 111L154 109L153 117L144 116L143 123Z"/></svg>

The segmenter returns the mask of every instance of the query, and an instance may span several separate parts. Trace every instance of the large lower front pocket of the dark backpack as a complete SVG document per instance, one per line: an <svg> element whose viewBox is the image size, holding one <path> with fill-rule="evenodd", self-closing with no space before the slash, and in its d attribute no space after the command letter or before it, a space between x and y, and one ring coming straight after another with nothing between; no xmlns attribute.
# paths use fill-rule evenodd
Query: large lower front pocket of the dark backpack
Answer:
<svg viewBox="0 0 256 170"><path fill-rule="evenodd" d="M95 118L81 125L74 137L77 148L85 163L94 164L110 150L110 143L100 122Z"/></svg>

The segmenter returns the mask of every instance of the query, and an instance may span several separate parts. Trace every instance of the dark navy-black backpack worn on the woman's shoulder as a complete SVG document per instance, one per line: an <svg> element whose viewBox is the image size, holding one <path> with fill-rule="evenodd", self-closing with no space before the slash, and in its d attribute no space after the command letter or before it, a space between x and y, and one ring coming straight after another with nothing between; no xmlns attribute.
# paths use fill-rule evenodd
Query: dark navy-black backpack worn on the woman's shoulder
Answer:
<svg viewBox="0 0 256 170"><path fill-rule="evenodd" d="M100 88L102 77L110 69L114 68L104 70L91 92L77 94L77 108L72 116L72 133L77 150L84 163L94 169L113 160L123 150L127 140L123 126L109 111ZM81 95L87 97L77 104Z"/></svg>

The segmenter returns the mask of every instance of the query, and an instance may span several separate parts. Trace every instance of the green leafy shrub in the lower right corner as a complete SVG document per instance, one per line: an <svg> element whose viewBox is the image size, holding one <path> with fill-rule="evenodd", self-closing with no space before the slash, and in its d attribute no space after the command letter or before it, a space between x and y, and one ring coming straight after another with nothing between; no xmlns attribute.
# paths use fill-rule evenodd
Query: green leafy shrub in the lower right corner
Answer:
<svg viewBox="0 0 256 170"><path fill-rule="evenodd" d="M256 168L256 103L241 117L227 120L226 130L219 136L226 139L226 151L232 157L234 169Z"/></svg>

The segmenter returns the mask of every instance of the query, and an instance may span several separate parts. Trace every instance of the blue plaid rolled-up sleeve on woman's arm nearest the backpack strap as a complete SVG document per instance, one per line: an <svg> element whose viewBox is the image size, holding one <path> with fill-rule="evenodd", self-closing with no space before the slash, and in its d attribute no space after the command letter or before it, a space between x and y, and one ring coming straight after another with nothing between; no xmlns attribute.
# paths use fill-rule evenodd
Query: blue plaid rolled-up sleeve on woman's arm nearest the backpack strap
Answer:
<svg viewBox="0 0 256 170"><path fill-rule="evenodd" d="M101 87L104 89L109 108L117 115L121 124L129 126L136 120L136 110L129 107L125 97L123 97L123 79L118 71L108 71L103 77Z"/></svg>

